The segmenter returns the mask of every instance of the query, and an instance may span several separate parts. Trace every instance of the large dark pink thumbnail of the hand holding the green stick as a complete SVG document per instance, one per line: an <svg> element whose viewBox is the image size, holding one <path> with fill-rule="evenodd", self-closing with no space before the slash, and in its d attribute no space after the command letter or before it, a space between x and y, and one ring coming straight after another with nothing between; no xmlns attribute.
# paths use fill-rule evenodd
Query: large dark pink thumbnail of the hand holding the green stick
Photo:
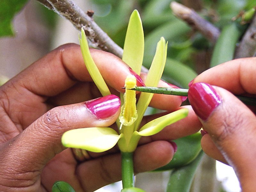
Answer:
<svg viewBox="0 0 256 192"><path fill-rule="evenodd" d="M196 115L207 120L212 111L221 103L220 95L209 84L195 83L188 89L188 100Z"/></svg>

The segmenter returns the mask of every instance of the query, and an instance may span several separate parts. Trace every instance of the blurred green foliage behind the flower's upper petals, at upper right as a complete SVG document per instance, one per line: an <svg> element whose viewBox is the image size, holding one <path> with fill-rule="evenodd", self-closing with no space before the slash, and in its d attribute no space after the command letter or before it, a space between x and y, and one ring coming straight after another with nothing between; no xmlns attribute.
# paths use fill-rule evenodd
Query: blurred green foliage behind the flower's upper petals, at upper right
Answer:
<svg viewBox="0 0 256 192"><path fill-rule="evenodd" d="M91 0L91 3L92 7L96 8L93 16L95 22L121 47L124 45L128 18L131 12L137 9L140 12L145 34L143 65L149 68L156 50L156 42L163 36L168 41L168 58L163 78L172 84L188 88L187 83L195 78L196 74L210 66L210 59L202 58L201 53L211 56L214 45L172 14L170 8L172 1ZM241 11L256 6L254 0L194 0L193 3L180 0L177 2L192 6L191 8L196 9L204 19L220 30L233 22L231 19ZM193 7L194 5L197 7ZM241 32L237 39L240 37ZM234 47L230 49L234 50ZM233 53L230 54L232 56Z"/></svg>

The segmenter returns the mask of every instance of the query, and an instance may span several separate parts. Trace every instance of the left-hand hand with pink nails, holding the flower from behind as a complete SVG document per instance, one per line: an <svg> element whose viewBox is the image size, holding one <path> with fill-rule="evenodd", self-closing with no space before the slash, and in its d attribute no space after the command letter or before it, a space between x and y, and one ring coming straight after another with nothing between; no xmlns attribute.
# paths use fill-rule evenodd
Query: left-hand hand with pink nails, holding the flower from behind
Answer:
<svg viewBox="0 0 256 192"><path fill-rule="evenodd" d="M121 87L130 74L126 64L107 52L92 49L91 54L111 92L123 92ZM160 86L169 85L161 81ZM116 121L120 100L115 95L93 100L100 96L84 65L80 46L75 44L57 48L1 86L0 191L51 191L56 180L63 180L77 192L88 192L120 180L117 148L88 152L89 159L78 162L72 150L61 144L62 134L70 129L108 127ZM151 106L173 111L181 100L179 96L155 95ZM105 108L100 108L102 105ZM157 116L145 117L143 123ZM177 126L166 128L173 135L141 139L134 152L135 172L167 164L175 150L169 141L198 130L198 126L191 129L185 125L183 129L190 131L175 132Z"/></svg>

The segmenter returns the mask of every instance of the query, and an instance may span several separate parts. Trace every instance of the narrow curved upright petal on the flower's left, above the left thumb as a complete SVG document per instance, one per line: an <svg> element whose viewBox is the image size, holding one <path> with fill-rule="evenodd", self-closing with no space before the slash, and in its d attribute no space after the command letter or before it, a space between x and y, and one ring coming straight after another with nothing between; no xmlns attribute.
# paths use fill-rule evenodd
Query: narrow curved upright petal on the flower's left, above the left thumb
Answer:
<svg viewBox="0 0 256 192"><path fill-rule="evenodd" d="M81 51L83 54L85 66L86 66L88 72L90 73L93 82L96 84L96 86L100 90L100 93L103 96L110 95L111 93L108 89L108 86L105 83L103 77L100 74L99 69L97 68L96 64L94 63L94 61L92 59L83 28L81 30L81 34L82 34L82 39L80 39L80 37L79 37L79 41L80 41L80 45L81 45Z"/></svg>

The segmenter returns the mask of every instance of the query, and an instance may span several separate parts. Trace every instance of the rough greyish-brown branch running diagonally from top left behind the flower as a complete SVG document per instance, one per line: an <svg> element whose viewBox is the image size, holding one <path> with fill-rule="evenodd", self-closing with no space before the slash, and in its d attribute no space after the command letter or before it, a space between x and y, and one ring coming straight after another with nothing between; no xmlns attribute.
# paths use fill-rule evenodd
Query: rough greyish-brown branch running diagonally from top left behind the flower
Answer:
<svg viewBox="0 0 256 192"><path fill-rule="evenodd" d="M122 58L119 47L85 12L72 0L37 0L47 8L68 19L78 30L83 27L90 46L111 52Z"/></svg>

